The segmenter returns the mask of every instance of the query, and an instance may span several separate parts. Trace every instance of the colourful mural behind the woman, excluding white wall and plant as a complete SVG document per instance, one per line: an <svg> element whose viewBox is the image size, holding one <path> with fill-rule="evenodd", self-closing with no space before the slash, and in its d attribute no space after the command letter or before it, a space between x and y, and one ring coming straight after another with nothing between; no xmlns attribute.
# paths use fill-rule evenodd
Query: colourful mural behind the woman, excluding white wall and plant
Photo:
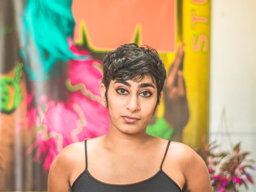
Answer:
<svg viewBox="0 0 256 192"><path fill-rule="evenodd" d="M125 43L159 52L168 78L149 134L207 137L210 2L0 1L0 191L46 191L68 144L108 131L102 58Z"/></svg>

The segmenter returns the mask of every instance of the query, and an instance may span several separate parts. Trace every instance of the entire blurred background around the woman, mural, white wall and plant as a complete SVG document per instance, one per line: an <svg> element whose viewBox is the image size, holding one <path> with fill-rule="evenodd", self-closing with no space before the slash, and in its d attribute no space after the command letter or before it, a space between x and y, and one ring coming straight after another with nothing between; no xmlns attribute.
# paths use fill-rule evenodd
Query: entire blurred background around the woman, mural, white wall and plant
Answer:
<svg viewBox="0 0 256 192"><path fill-rule="evenodd" d="M107 133L102 60L126 43L155 48L168 72L147 133L196 150L215 191L256 191L255 7L254 0L1 0L0 191L47 191L64 147Z"/></svg>

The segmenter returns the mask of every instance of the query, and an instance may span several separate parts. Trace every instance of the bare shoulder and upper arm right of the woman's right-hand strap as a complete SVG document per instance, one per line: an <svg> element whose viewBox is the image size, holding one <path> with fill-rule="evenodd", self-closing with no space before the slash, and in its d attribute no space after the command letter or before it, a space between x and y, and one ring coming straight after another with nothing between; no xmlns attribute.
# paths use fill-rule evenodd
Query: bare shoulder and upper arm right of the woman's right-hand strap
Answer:
<svg viewBox="0 0 256 192"><path fill-rule="evenodd" d="M212 192L205 162L186 144L173 141L170 143L165 158L165 169L184 191Z"/></svg>

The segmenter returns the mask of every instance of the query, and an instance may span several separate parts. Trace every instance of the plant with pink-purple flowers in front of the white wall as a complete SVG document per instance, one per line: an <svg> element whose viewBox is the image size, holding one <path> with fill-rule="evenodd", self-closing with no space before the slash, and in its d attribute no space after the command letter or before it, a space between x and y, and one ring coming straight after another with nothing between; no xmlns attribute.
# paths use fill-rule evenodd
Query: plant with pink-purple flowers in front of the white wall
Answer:
<svg viewBox="0 0 256 192"><path fill-rule="evenodd" d="M213 142L206 144L203 149L195 150L208 167L213 191L239 192L241 186L248 189L248 184L254 183L250 170L255 170L254 160L246 159L250 152L241 152L240 143L224 152L216 152L218 147Z"/></svg>

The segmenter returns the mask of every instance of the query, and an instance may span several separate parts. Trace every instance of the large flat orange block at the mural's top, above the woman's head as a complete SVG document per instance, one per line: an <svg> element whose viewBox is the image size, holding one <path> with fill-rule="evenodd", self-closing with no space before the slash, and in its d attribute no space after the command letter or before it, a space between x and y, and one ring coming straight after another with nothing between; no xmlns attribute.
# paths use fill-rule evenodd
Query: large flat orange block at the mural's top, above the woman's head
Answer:
<svg viewBox="0 0 256 192"><path fill-rule="evenodd" d="M74 0L75 42L82 41L82 27L90 47L112 50L134 40L140 30L140 43L158 52L174 52L176 43L175 0Z"/></svg>

